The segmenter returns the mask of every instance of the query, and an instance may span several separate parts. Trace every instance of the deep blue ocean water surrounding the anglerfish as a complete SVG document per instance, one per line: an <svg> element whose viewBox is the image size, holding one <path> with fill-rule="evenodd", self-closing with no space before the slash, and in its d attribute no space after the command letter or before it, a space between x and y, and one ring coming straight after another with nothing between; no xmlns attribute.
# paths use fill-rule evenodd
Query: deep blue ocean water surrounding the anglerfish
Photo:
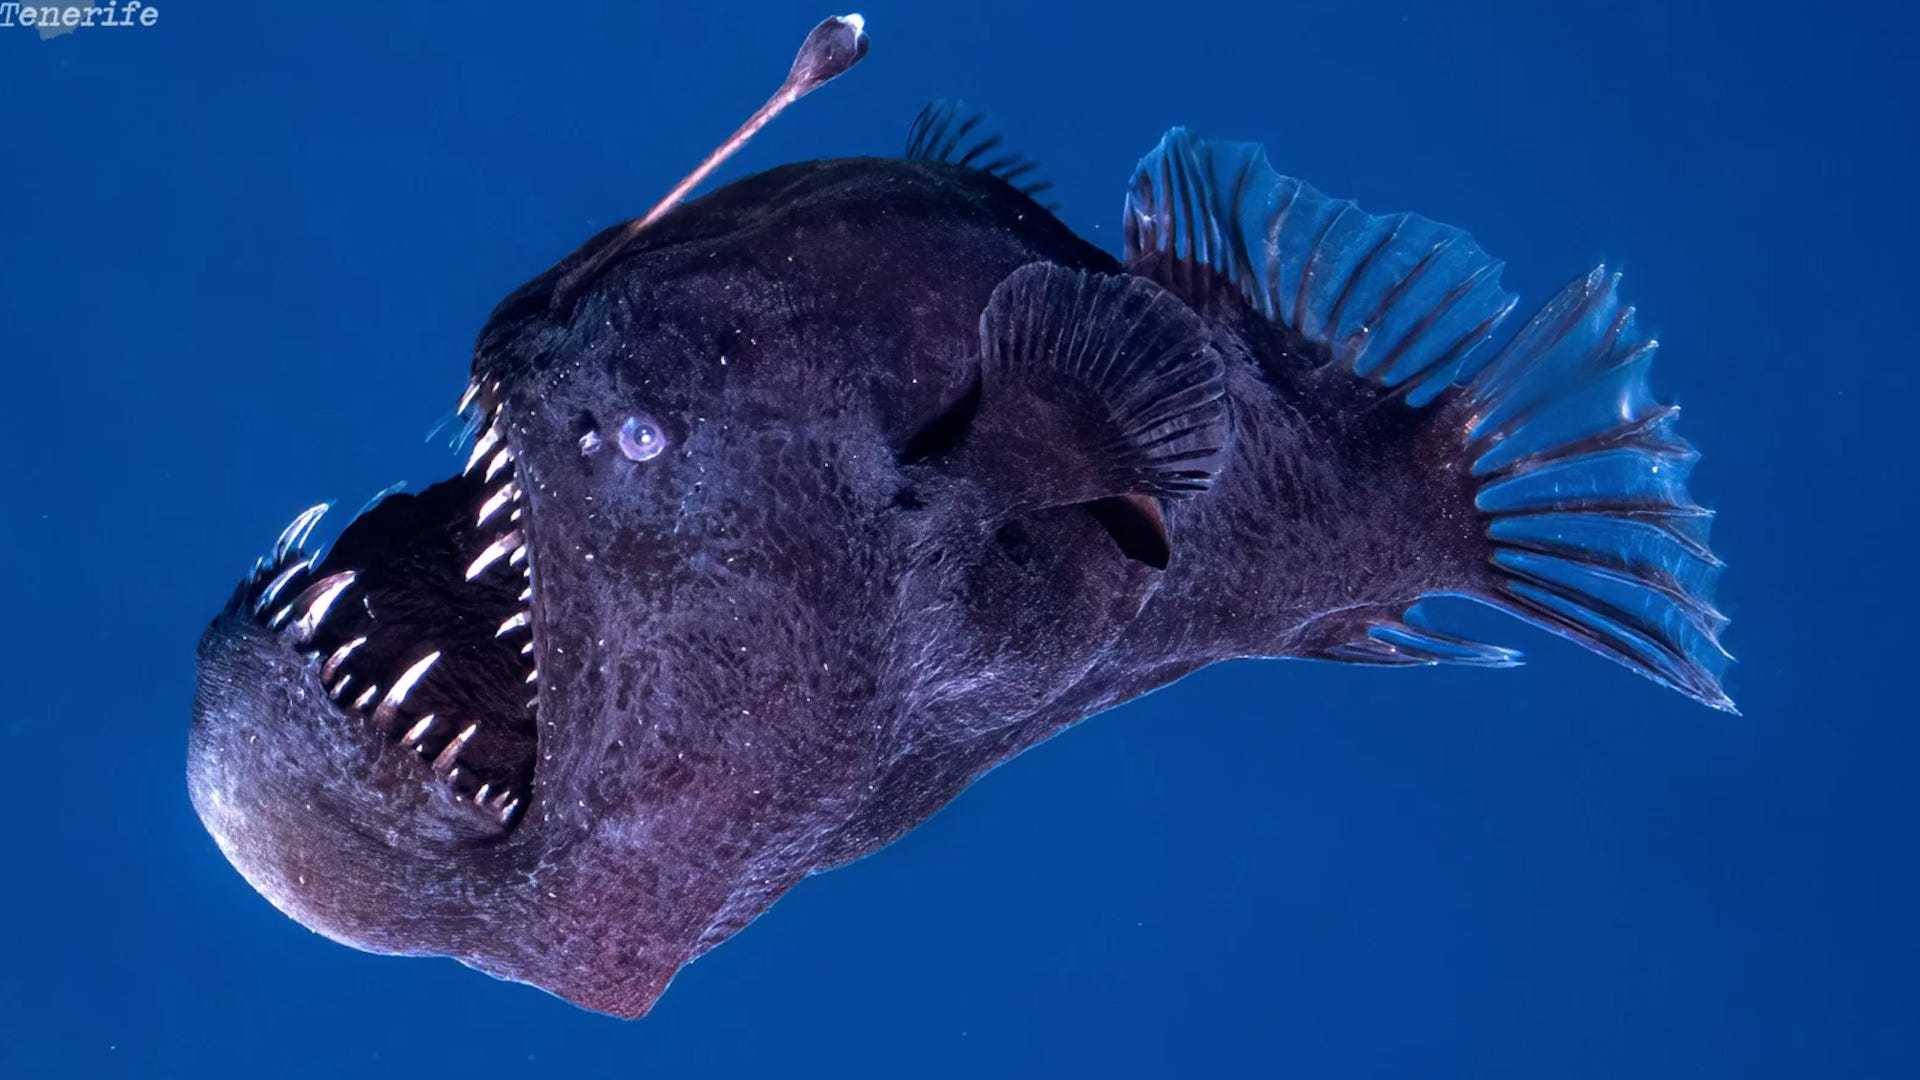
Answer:
<svg viewBox="0 0 1920 1080"><path fill-rule="evenodd" d="M509 288L645 209L814 4L209 4L0 29L0 1076L1916 1076L1914 21L1895 6L866 6L726 177L991 108L1119 244L1175 123L1607 258L1703 450L1741 717L1519 671L1206 671L814 878L614 1022L261 901L182 782L280 525L444 475Z"/></svg>

